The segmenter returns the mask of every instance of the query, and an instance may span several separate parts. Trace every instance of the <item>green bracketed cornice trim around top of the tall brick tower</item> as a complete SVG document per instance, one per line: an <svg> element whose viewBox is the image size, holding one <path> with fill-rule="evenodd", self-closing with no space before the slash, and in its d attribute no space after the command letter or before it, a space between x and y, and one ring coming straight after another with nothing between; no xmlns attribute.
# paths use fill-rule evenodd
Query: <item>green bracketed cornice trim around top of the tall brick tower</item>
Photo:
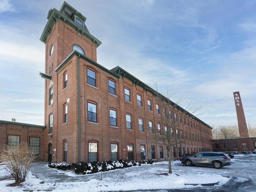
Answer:
<svg viewBox="0 0 256 192"><path fill-rule="evenodd" d="M64 4L65 4L65 2L64 2ZM62 6L64 6L64 4ZM68 4L66 3L65 5L68 5ZM71 6L69 6L69 7L71 7ZM72 8L72 9L74 10L74 8ZM79 13L79 15L82 18L84 18L84 20L86 19L84 16L82 16L82 14ZM67 16L65 16L64 14L62 14L55 8L49 10L47 19L48 19L48 22L46 23L46 26L44 27L44 30L40 37L40 41L42 41L43 43L46 42L48 36L52 32L52 28L56 24L56 21L61 20L64 25L67 24L67 25L71 26L74 30L76 30L77 33L80 33L81 35L84 35L84 36L86 36L86 38L90 39L92 41L92 43L96 44L96 47L98 47L98 46L100 46L100 44L102 44L102 42L100 40L98 40L96 37L92 36L89 32L87 32L85 29L78 26L76 23L74 23L72 20L70 20L70 18L68 18Z"/></svg>

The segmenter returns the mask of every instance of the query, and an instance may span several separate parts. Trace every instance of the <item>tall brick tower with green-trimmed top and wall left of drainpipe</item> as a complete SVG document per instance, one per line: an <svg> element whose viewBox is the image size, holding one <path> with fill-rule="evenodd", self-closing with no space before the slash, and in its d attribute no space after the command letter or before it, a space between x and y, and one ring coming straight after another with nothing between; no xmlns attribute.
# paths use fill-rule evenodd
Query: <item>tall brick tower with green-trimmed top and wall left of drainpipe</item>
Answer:
<svg viewBox="0 0 256 192"><path fill-rule="evenodd" d="M80 151L76 149L80 149L77 131L80 128L80 80L77 75L80 68L78 59L68 60L78 53L97 62L96 48L101 42L88 31L86 18L66 2L59 11L50 9L47 19L40 37L46 47L45 72L40 72L40 76L46 80L44 147L48 149L49 162L67 161L65 152L72 148L75 149L73 156L77 157L75 161L79 161ZM67 144L70 141L72 146Z"/></svg>

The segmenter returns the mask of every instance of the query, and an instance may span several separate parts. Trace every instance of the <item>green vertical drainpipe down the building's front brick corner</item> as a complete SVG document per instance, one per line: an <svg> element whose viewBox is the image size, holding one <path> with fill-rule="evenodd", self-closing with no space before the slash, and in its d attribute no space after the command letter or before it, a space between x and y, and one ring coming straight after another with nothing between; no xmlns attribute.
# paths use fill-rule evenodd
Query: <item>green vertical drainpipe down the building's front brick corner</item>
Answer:
<svg viewBox="0 0 256 192"><path fill-rule="evenodd" d="M78 163L80 162L80 54L77 58L77 100L78 100Z"/></svg>

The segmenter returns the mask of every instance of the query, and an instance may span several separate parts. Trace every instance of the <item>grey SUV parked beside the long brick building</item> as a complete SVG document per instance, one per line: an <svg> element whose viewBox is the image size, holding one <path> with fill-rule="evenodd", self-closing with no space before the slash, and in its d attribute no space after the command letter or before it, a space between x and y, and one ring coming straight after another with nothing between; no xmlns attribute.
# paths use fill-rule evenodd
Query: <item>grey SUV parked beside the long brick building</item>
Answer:
<svg viewBox="0 0 256 192"><path fill-rule="evenodd" d="M231 165L230 157L222 152L199 152L193 156L183 156L181 162L186 166L210 165L216 169Z"/></svg>

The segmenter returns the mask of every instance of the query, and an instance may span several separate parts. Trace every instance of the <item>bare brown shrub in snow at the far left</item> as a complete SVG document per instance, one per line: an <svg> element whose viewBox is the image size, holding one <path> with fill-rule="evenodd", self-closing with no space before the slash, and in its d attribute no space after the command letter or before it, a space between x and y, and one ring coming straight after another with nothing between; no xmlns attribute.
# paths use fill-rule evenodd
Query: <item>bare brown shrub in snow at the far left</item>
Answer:
<svg viewBox="0 0 256 192"><path fill-rule="evenodd" d="M35 158L27 143L5 146L0 152L0 162L4 162L4 170L10 173L16 183L26 180L30 166Z"/></svg>

